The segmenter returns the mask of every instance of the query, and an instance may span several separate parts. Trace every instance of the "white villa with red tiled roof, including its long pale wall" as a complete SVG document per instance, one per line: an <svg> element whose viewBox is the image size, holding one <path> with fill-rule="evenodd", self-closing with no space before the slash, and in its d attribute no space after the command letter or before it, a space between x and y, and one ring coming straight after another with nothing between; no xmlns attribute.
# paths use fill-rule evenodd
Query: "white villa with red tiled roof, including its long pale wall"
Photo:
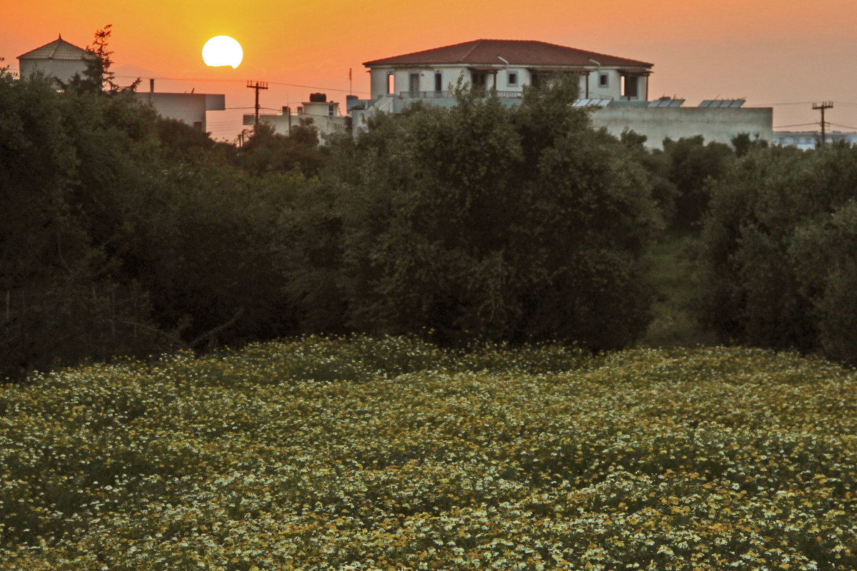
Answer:
<svg viewBox="0 0 857 571"><path fill-rule="evenodd" d="M773 109L742 108L743 99L709 99L684 107L684 99L649 99L653 64L532 40L477 39L433 50L364 62L371 75L371 98L348 104L355 133L379 111L399 113L414 101L452 106L450 92L458 78L471 86L495 90L506 104L518 104L524 86L538 87L552 74L576 74L580 98L592 106L596 127L620 135L632 129L659 148L669 137L702 134L728 143L746 133L773 139ZM363 109L361 109L363 108Z"/></svg>

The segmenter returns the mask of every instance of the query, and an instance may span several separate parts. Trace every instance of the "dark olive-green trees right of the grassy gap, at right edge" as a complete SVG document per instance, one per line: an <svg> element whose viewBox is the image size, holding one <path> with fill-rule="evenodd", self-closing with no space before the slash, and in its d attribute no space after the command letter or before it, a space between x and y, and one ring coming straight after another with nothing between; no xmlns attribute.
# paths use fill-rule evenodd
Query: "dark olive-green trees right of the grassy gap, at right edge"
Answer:
<svg viewBox="0 0 857 571"><path fill-rule="evenodd" d="M703 323L723 340L857 361L857 149L746 155L716 185L700 260Z"/></svg>

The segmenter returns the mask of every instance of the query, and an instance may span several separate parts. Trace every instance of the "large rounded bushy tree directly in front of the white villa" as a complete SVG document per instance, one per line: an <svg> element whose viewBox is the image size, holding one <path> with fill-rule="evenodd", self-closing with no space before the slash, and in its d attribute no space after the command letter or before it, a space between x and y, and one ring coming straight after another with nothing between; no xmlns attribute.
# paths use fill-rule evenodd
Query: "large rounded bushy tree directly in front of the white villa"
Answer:
<svg viewBox="0 0 857 571"><path fill-rule="evenodd" d="M510 108L459 86L452 109L381 115L333 146L322 183L352 328L445 344L638 336L656 208L624 148L569 105L575 90L557 82Z"/></svg>

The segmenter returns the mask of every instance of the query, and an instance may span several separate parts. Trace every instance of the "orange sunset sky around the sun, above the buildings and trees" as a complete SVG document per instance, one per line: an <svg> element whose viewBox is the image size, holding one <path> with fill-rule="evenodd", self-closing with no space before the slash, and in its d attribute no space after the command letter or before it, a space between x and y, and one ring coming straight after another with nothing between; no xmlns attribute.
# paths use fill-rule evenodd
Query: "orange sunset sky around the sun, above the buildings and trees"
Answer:
<svg viewBox="0 0 857 571"><path fill-rule="evenodd" d="M156 78L159 92L225 93L209 111L215 139L231 140L252 113L248 80L279 112L325 92L369 97L363 67L382 57L473 39L535 39L654 63L650 98L746 98L771 106L775 130L818 130L813 102L833 101L832 130L857 131L857 2L854 0L28 0L0 8L0 57L16 57L62 33L80 47L111 24L117 83ZM243 46L238 68L202 61L206 40ZM351 69L352 80L349 80Z"/></svg>

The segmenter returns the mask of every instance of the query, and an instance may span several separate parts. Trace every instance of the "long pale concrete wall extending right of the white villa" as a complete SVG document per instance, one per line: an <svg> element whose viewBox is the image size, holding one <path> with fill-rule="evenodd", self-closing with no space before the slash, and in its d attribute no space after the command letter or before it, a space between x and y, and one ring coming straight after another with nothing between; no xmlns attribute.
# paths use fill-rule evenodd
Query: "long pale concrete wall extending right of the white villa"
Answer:
<svg viewBox="0 0 857 571"><path fill-rule="evenodd" d="M774 112L770 107L752 109L706 107L614 107L608 105L592 114L596 127L620 136L632 129L647 137L646 146L661 148L669 137L677 140L701 134L707 142L729 143L741 133L772 142Z"/></svg>

